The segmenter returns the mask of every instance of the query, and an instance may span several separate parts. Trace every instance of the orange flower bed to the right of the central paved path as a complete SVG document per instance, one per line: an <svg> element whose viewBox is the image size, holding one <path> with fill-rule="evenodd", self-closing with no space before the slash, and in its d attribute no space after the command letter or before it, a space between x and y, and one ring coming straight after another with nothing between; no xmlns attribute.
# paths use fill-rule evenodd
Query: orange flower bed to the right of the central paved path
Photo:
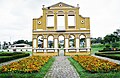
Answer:
<svg viewBox="0 0 120 78"><path fill-rule="evenodd" d="M73 59L87 71L92 73L119 71L120 65L93 56L73 56Z"/></svg>

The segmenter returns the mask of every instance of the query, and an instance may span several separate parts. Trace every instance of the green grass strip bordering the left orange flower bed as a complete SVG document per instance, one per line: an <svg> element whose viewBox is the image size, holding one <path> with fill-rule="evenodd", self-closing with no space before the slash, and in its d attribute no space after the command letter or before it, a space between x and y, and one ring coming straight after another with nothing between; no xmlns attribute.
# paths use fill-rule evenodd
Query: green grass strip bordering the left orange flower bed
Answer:
<svg viewBox="0 0 120 78"><path fill-rule="evenodd" d="M0 73L0 78L44 78L49 68L53 64L55 58L49 59L49 61L36 73Z"/></svg>

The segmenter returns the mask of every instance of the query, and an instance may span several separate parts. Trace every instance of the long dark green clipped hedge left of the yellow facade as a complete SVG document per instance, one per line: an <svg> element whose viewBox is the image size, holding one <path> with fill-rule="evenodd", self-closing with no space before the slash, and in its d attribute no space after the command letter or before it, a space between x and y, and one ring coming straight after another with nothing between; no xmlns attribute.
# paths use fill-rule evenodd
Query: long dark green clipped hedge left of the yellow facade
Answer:
<svg viewBox="0 0 120 78"><path fill-rule="evenodd" d="M30 55L29 53L22 53L22 54L16 54L16 55L13 55L13 56L0 58L0 63L7 62L7 61L10 61L10 60L14 60L14 59L18 59L18 58L21 58L21 57L26 57L26 56L29 56L29 55Z"/></svg>

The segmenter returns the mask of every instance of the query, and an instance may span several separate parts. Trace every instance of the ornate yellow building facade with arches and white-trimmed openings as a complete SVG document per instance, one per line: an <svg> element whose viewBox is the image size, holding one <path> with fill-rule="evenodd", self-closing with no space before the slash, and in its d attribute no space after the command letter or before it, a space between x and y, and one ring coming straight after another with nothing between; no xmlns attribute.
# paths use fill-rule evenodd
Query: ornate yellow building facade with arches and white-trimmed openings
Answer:
<svg viewBox="0 0 120 78"><path fill-rule="evenodd" d="M43 5L43 16L33 19L33 55L89 55L90 18L77 7L59 2Z"/></svg>

